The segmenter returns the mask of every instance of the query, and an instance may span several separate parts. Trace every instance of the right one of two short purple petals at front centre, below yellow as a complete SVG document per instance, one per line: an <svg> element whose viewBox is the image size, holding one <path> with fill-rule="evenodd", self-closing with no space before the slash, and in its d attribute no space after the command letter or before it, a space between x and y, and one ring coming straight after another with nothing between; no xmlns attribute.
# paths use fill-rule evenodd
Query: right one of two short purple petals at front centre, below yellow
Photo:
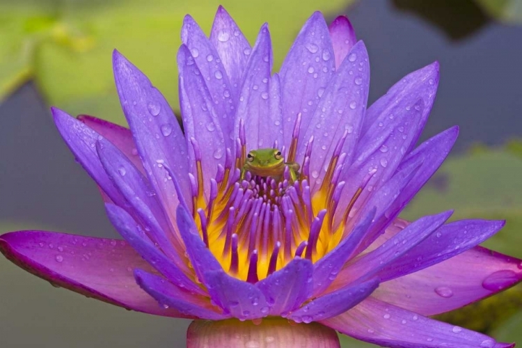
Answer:
<svg viewBox="0 0 522 348"><path fill-rule="evenodd" d="M296 258L255 284L271 305L269 315L289 313L312 295L312 268L310 260Z"/></svg>

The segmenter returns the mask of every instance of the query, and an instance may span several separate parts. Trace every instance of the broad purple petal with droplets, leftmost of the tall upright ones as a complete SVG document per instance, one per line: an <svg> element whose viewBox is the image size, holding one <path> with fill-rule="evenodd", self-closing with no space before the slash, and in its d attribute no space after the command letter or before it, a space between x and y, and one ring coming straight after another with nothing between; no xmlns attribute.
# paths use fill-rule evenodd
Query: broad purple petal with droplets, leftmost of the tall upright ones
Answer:
<svg viewBox="0 0 522 348"><path fill-rule="evenodd" d="M174 220L179 200L191 202L187 143L171 106L150 80L119 52L113 52L116 88L123 112L129 122L143 167L165 211ZM171 168L184 197L177 197L163 166ZM179 199L179 200L178 200Z"/></svg>

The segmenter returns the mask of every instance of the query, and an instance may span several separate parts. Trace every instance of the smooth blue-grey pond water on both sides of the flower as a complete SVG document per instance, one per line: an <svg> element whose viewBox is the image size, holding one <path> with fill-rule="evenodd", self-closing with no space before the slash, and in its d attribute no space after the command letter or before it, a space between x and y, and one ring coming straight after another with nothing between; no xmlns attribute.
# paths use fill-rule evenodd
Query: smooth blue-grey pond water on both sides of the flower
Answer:
<svg viewBox="0 0 522 348"><path fill-rule="evenodd" d="M363 1L347 15L370 52L370 102L404 74L441 63L423 139L452 125L461 126L458 150L522 136L522 28L489 23L452 40L388 1ZM0 156L0 233L46 228L116 237L95 184L74 162L32 84L0 105ZM0 274L1 347L184 346L188 321L129 313L55 289L3 259Z"/></svg>

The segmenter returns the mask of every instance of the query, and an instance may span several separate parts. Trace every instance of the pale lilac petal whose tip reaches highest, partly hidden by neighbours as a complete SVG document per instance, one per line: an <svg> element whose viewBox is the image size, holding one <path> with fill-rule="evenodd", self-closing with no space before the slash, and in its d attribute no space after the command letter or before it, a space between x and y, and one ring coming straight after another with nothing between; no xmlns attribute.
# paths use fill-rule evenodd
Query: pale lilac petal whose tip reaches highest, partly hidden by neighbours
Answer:
<svg viewBox="0 0 522 348"><path fill-rule="evenodd" d="M216 17L214 17L210 42L216 47L216 52L230 79L232 95L239 95L251 46L223 6L219 6Z"/></svg>

